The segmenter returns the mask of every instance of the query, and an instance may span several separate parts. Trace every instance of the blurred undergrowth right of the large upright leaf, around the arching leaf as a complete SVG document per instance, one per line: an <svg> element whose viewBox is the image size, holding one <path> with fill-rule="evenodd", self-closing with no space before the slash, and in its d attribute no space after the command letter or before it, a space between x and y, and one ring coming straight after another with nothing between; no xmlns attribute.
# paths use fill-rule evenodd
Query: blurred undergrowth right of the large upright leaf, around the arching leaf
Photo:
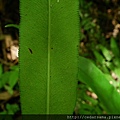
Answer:
<svg viewBox="0 0 120 120"><path fill-rule="evenodd" d="M120 93L120 1L80 0L80 23L79 54L91 59ZM77 113L107 114L92 89L78 84Z"/></svg>

